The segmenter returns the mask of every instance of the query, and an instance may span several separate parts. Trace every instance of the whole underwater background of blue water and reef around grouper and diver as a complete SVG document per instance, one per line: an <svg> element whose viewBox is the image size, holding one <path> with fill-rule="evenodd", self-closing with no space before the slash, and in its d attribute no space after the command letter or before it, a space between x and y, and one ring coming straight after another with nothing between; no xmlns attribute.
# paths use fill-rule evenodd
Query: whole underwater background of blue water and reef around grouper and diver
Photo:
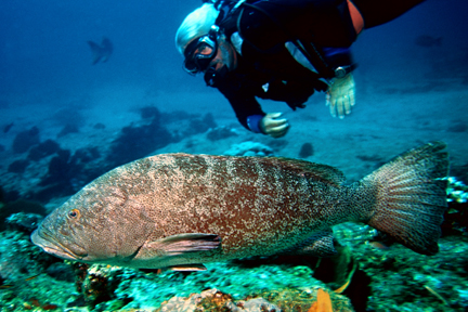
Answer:
<svg viewBox="0 0 468 312"><path fill-rule="evenodd" d="M428 0L353 44L356 105L325 95L283 112L282 139L246 131L227 101L182 69L174 34L202 1L0 2L0 311L467 311L468 2ZM112 42L93 63L87 41ZM106 171L185 152L334 166L349 182L429 141L451 157L440 251L366 225L334 229L339 259L269 257L181 273L86 265L32 245L40 220ZM322 299L321 299L322 298ZM313 310L315 309L315 310ZM321 310L322 309L322 310Z"/></svg>

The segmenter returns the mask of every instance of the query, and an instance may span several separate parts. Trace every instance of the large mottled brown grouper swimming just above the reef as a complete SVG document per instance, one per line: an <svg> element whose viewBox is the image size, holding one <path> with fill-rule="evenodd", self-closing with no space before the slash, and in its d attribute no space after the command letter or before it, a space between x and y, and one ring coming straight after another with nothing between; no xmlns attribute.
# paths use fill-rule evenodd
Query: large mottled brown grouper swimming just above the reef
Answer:
<svg viewBox="0 0 468 312"><path fill-rule="evenodd" d="M446 209L444 148L428 143L350 185L333 167L297 159L152 156L84 186L31 239L87 263L203 270L251 256L332 256L332 226L356 221L434 255Z"/></svg>

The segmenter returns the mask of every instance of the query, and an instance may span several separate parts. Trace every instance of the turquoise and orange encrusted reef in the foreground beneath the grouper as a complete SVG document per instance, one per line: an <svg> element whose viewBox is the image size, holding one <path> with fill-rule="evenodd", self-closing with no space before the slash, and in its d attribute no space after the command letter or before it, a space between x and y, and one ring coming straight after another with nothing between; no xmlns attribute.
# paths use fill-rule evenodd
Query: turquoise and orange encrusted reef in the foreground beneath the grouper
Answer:
<svg viewBox="0 0 468 312"><path fill-rule="evenodd" d="M468 240L460 242L453 236L443 238L441 252L427 257L396 244L386 249L365 244L375 235L367 225L344 223L334 232L337 239L350 248L360 270L372 276L367 308L359 309L352 295L347 294L349 288L363 291L359 285L352 286L354 281L344 291L355 311L465 311L468 307L465 286ZM27 304L37 309L51 304L83 312L165 311L184 302L186 310L167 311L262 311L258 307L263 306L281 309L274 311L309 312L313 311L310 309L317 300L320 288L330 295L333 311L353 311L349 299L327 290L327 286L312 277L316 270L326 271L326 268L311 269L315 268L312 262L308 266L299 264L303 257L296 257L292 262L282 256L270 260L207 263L208 270L203 272L164 271L160 274L77 263L73 264L75 273L72 273L69 264L39 251L25 234L3 232L0 239L5 243L0 246L0 281L8 287L0 291L0 306L11 307L5 311L24 311ZM339 262L339 266L349 266L347 261ZM40 272L47 274L25 282ZM62 278L64 275L67 277ZM77 278L75 285L70 283L73 275ZM205 292L206 289L211 290ZM195 306L199 309L187 309ZM248 310L251 307L257 310Z"/></svg>

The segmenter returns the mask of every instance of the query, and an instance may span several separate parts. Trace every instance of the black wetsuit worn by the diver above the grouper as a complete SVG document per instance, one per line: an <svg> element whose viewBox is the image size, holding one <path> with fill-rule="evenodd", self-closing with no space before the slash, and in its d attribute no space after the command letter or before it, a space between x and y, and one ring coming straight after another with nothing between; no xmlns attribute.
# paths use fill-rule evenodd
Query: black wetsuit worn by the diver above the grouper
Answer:
<svg viewBox="0 0 468 312"><path fill-rule="evenodd" d="M361 12L365 28L385 24L424 1L352 0ZM348 48L358 34L346 0L247 2L260 10L244 8L238 23L237 16L232 18L235 27L232 27L231 21L231 27L225 28L227 38L238 31L244 39L238 66L209 84L218 88L229 100L244 127L259 132L258 121L265 113L256 98L286 102L296 109L314 91L327 88L325 82L318 80L324 75L303 67L285 48L285 42L292 39L291 35L301 42L313 42L325 64L334 68L352 63ZM205 78L208 83L207 76Z"/></svg>

